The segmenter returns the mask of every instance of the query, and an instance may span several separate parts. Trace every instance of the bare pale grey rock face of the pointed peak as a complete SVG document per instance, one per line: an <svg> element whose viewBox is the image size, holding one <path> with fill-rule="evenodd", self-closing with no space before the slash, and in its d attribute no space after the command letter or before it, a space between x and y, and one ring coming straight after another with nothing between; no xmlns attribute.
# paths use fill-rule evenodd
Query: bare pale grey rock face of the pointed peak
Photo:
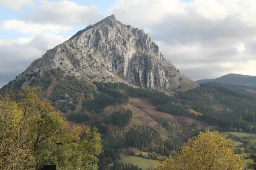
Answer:
<svg viewBox="0 0 256 170"><path fill-rule="evenodd" d="M61 68L66 74L90 81L119 81L143 88L173 90L197 86L163 58L148 34L120 23L114 15L47 51L17 79L31 72L40 76L48 68Z"/></svg>

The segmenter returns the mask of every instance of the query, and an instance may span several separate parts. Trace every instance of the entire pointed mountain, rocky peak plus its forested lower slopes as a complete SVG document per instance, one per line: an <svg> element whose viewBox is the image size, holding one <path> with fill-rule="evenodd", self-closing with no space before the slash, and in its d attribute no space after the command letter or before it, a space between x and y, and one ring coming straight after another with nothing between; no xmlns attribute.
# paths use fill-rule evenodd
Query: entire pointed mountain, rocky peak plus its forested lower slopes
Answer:
<svg viewBox="0 0 256 170"><path fill-rule="evenodd" d="M44 91L63 118L98 129L100 170L135 151L164 160L206 129L256 133L256 89L199 86L163 58L148 34L113 15L47 51L0 93L26 86Z"/></svg>

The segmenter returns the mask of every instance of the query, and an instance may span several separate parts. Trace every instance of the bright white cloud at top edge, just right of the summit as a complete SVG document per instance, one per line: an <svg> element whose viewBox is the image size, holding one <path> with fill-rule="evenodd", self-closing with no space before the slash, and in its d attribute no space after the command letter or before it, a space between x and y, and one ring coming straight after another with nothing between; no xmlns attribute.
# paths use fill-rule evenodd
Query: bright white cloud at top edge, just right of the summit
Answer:
<svg viewBox="0 0 256 170"><path fill-rule="evenodd" d="M180 0L116 0L108 10L125 24L150 27L163 21L166 14L187 15Z"/></svg>

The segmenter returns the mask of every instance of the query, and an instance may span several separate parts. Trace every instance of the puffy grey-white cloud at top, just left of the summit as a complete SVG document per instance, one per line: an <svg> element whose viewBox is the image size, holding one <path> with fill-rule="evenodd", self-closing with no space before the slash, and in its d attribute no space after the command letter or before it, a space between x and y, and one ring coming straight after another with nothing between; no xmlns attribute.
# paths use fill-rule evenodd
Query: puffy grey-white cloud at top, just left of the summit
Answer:
<svg viewBox="0 0 256 170"><path fill-rule="evenodd" d="M80 6L69 0L40 2L34 11L21 14L21 19L46 25L87 26L104 18L96 6Z"/></svg>

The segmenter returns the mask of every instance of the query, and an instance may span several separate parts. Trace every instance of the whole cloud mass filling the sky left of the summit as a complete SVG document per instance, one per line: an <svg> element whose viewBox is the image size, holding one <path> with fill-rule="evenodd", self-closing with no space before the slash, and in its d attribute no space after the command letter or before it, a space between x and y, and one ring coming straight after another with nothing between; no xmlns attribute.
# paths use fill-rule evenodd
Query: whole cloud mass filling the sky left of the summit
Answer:
<svg viewBox="0 0 256 170"><path fill-rule="evenodd" d="M25 38L0 39L0 87L23 72L34 59L67 40L60 34L70 34L77 27L85 28L103 19L96 6L81 6L70 0L39 0L38 5L33 0L0 0L0 6L13 9L31 5L29 12L19 12L19 19L0 23L1 32L29 34Z"/></svg>

